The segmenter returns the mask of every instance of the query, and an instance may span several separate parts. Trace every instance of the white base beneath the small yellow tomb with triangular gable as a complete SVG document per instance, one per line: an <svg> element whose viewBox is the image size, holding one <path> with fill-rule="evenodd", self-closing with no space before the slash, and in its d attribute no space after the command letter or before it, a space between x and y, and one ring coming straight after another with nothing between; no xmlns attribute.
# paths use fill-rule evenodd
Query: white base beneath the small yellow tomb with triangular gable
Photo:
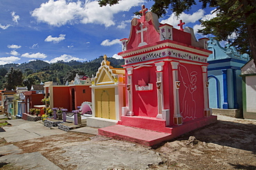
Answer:
<svg viewBox="0 0 256 170"><path fill-rule="evenodd" d="M88 127L97 127L97 128L110 127L118 123L118 120L111 120L107 118L91 117L91 118L86 118L86 120L87 120L86 123Z"/></svg>

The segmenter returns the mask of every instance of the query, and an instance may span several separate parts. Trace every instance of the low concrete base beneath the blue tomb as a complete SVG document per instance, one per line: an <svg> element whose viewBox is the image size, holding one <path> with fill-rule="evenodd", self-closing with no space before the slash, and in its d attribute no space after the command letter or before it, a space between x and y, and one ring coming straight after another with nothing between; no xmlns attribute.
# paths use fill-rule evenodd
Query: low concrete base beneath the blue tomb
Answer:
<svg viewBox="0 0 256 170"><path fill-rule="evenodd" d="M241 109L212 109L212 114L230 116L235 118L243 118Z"/></svg>

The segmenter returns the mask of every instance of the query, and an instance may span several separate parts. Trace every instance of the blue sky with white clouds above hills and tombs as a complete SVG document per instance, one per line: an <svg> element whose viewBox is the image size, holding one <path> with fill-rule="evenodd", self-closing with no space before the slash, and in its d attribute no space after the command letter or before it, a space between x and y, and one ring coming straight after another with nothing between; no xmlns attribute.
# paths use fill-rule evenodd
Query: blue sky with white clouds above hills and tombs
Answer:
<svg viewBox="0 0 256 170"><path fill-rule="evenodd" d="M129 38L134 12L154 1L122 0L117 5L100 7L89 0L1 0L0 65L42 60L91 61L98 56L120 59L120 39ZM179 28L194 28L196 38L201 28L199 19L211 19L214 8L201 9L201 4L183 12L178 18L171 10L159 19ZM206 36L207 37L207 36Z"/></svg>

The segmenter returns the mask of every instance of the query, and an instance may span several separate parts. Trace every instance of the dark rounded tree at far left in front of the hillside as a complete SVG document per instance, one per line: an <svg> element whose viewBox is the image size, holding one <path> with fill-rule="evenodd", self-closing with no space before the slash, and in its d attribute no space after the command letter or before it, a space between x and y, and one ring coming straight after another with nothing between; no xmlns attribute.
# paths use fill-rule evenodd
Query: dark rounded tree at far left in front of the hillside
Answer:
<svg viewBox="0 0 256 170"><path fill-rule="evenodd" d="M10 68L9 72L6 74L6 89L15 89L18 85L22 85L22 78L23 74L21 70L14 69L13 67Z"/></svg>

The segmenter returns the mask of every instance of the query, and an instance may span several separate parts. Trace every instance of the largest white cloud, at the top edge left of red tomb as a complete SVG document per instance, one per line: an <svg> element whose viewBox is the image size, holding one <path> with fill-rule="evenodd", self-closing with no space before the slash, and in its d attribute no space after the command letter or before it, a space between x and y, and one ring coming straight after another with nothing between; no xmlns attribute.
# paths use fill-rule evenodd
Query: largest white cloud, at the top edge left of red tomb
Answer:
<svg viewBox="0 0 256 170"><path fill-rule="evenodd" d="M129 11L139 6L144 0L122 0L115 6L100 7L98 1L71 2L65 0L49 0L42 3L31 15L39 22L60 27L66 23L97 23L109 27L115 25L113 14Z"/></svg>

